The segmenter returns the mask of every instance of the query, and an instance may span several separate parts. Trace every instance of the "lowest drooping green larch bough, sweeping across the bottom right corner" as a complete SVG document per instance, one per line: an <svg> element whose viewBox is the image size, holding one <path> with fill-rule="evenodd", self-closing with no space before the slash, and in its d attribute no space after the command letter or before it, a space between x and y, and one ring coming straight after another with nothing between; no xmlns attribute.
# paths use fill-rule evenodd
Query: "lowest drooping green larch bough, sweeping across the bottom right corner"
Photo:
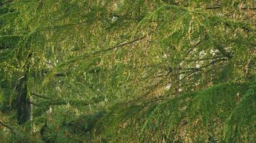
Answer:
<svg viewBox="0 0 256 143"><path fill-rule="evenodd" d="M94 142L255 142L255 82L125 104L99 121Z"/></svg>

